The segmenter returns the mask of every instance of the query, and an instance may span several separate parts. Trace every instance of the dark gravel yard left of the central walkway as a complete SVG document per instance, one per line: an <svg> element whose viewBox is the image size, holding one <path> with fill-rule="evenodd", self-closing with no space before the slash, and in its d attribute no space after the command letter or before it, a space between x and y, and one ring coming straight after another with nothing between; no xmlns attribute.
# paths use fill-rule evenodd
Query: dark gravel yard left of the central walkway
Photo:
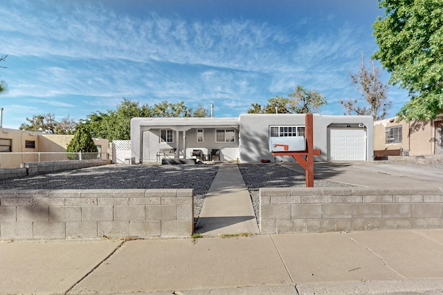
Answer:
<svg viewBox="0 0 443 295"><path fill-rule="evenodd" d="M199 216L219 165L106 165L0 180L0 189L194 189Z"/></svg>

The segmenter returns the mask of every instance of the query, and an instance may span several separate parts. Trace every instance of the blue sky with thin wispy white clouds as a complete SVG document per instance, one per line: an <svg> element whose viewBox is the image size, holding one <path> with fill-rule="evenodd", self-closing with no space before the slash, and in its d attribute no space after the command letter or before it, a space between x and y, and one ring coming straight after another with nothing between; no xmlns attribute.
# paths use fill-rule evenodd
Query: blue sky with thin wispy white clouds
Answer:
<svg viewBox="0 0 443 295"><path fill-rule="evenodd" d="M377 50L378 15L374 0L1 1L3 127L85 119L123 97L237 117L298 84L325 95L321 114L343 115L338 100L359 97L349 73ZM388 97L388 116L408 99L396 86Z"/></svg>

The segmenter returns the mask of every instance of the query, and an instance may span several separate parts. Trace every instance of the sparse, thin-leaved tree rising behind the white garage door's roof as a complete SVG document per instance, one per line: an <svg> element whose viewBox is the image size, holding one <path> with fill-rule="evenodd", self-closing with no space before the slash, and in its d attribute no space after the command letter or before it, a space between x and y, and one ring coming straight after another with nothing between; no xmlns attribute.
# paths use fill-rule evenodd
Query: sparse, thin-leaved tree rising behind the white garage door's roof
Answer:
<svg viewBox="0 0 443 295"><path fill-rule="evenodd" d="M371 69L365 67L365 60L363 53L361 53L361 66L358 73L350 73L351 81L361 93L360 99L340 100L340 104L345 107L347 114L351 115L372 115L374 120L383 119L390 109L392 102L388 101L386 92L388 85L383 84L379 77L379 68L374 66L374 61L371 59ZM361 106L369 104L368 106Z"/></svg>

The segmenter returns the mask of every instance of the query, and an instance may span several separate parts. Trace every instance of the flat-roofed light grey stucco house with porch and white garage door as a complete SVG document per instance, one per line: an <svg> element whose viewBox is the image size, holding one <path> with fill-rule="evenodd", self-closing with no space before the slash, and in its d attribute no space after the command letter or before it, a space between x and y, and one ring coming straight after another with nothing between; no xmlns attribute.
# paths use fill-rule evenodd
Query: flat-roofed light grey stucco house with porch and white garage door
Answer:
<svg viewBox="0 0 443 295"><path fill-rule="evenodd" d="M372 160L371 116L314 114L314 149L324 160ZM242 114L237 118L158 118L131 120L132 157L136 162L161 158L217 157L221 161L293 162L289 156L274 157L269 137L304 136L304 114ZM165 151L170 151L165 155Z"/></svg>

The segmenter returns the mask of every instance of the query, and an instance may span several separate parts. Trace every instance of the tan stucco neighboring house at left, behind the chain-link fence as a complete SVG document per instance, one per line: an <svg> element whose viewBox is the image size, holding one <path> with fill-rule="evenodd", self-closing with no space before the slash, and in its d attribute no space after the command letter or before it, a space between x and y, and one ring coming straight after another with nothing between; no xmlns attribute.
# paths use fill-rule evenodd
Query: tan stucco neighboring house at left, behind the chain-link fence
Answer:
<svg viewBox="0 0 443 295"><path fill-rule="evenodd" d="M74 135L46 134L35 131L0 128L0 168L17 166L17 157L1 153L64 153ZM109 141L93 138L99 153L108 153ZM55 159L55 158L54 158ZM21 156L21 162L38 161L38 156Z"/></svg>

